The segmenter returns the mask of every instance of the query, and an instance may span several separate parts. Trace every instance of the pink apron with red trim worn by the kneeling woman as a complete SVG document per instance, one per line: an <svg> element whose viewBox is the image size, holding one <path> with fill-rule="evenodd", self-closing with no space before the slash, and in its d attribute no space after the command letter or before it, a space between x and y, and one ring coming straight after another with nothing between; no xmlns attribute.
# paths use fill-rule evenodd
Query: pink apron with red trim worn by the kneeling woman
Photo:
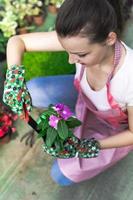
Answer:
<svg viewBox="0 0 133 200"><path fill-rule="evenodd" d="M80 80L82 78L84 67L81 69ZM110 110L99 111L90 99L82 92L80 80L75 80L76 88L79 90L79 96L76 104L76 116L83 124L75 130L78 138L92 138L97 140L107 138L128 129L127 114L124 113L115 102L110 93L110 80L108 79L107 97L111 106ZM131 150L133 145L100 150L99 156L91 159L71 158L58 159L59 167L62 173L73 182L88 180L116 162L124 158Z"/></svg>

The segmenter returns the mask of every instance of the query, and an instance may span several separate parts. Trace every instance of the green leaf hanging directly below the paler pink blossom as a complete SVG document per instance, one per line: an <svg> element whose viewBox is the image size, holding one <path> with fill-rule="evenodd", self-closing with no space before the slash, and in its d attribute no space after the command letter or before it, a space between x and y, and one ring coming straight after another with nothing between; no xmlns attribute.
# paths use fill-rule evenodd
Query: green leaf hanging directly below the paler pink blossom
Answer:
<svg viewBox="0 0 133 200"><path fill-rule="evenodd" d="M46 145L48 147L51 147L57 137L58 132L54 129L49 127L47 129L47 134L46 134Z"/></svg>

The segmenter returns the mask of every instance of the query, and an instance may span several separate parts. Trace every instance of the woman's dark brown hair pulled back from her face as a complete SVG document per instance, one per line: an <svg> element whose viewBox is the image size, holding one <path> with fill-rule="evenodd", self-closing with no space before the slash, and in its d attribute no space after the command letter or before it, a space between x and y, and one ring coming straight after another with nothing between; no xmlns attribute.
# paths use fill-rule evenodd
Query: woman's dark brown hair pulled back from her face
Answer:
<svg viewBox="0 0 133 200"><path fill-rule="evenodd" d="M103 42L109 32L122 30L119 0L65 0L56 19L60 37L80 34L91 42Z"/></svg>

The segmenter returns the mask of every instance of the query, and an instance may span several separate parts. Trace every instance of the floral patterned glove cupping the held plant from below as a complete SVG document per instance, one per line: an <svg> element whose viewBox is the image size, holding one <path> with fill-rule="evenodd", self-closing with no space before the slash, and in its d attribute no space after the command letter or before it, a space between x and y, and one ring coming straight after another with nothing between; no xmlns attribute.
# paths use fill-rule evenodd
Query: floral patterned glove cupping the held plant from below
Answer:
<svg viewBox="0 0 133 200"><path fill-rule="evenodd" d="M56 148L49 148L43 145L45 152L56 158L95 158L99 155L100 145L94 138L79 140L77 137L70 137L65 143L62 151Z"/></svg>

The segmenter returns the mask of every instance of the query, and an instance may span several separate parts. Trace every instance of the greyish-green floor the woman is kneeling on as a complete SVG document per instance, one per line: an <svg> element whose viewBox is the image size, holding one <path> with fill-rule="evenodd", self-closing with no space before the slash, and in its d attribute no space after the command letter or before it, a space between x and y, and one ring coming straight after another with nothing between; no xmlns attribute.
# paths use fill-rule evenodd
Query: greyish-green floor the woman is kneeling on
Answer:
<svg viewBox="0 0 133 200"><path fill-rule="evenodd" d="M133 22L124 33L126 43L133 47ZM0 67L2 68L2 66ZM3 76L0 74L0 95ZM34 109L34 118L39 112ZM17 134L8 144L0 146L0 200L132 200L133 152L117 165L90 181L61 187L50 177L53 159L46 155L41 140L30 148L20 138L30 127L16 122ZM14 135L15 136L15 135Z"/></svg>

